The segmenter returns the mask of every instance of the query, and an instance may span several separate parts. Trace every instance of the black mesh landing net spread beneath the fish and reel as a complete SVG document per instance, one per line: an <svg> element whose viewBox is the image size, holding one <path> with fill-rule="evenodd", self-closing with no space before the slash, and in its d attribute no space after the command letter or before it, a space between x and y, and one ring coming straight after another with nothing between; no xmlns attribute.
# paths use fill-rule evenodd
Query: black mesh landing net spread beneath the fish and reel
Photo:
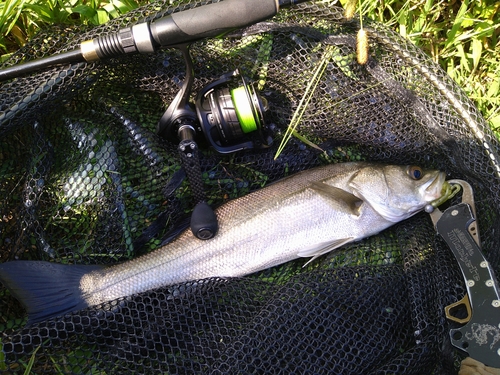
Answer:
<svg viewBox="0 0 500 375"><path fill-rule="evenodd" d="M55 29L4 66L200 6L167 0L92 29ZM475 189L483 251L496 272L499 144L451 79L413 45L369 23L370 60L355 57L357 21L328 3L192 48L193 95L238 68L259 81L275 138L264 151L201 147L218 205L327 162L416 163ZM273 160L306 87L326 68L292 139ZM159 246L192 209L176 145L155 135L185 76L176 49L56 67L0 87L0 259L111 264ZM332 230L335 230L332 228ZM25 327L0 289L0 369L23 373L453 374L444 306L462 276L427 214L302 267L197 281Z"/></svg>

